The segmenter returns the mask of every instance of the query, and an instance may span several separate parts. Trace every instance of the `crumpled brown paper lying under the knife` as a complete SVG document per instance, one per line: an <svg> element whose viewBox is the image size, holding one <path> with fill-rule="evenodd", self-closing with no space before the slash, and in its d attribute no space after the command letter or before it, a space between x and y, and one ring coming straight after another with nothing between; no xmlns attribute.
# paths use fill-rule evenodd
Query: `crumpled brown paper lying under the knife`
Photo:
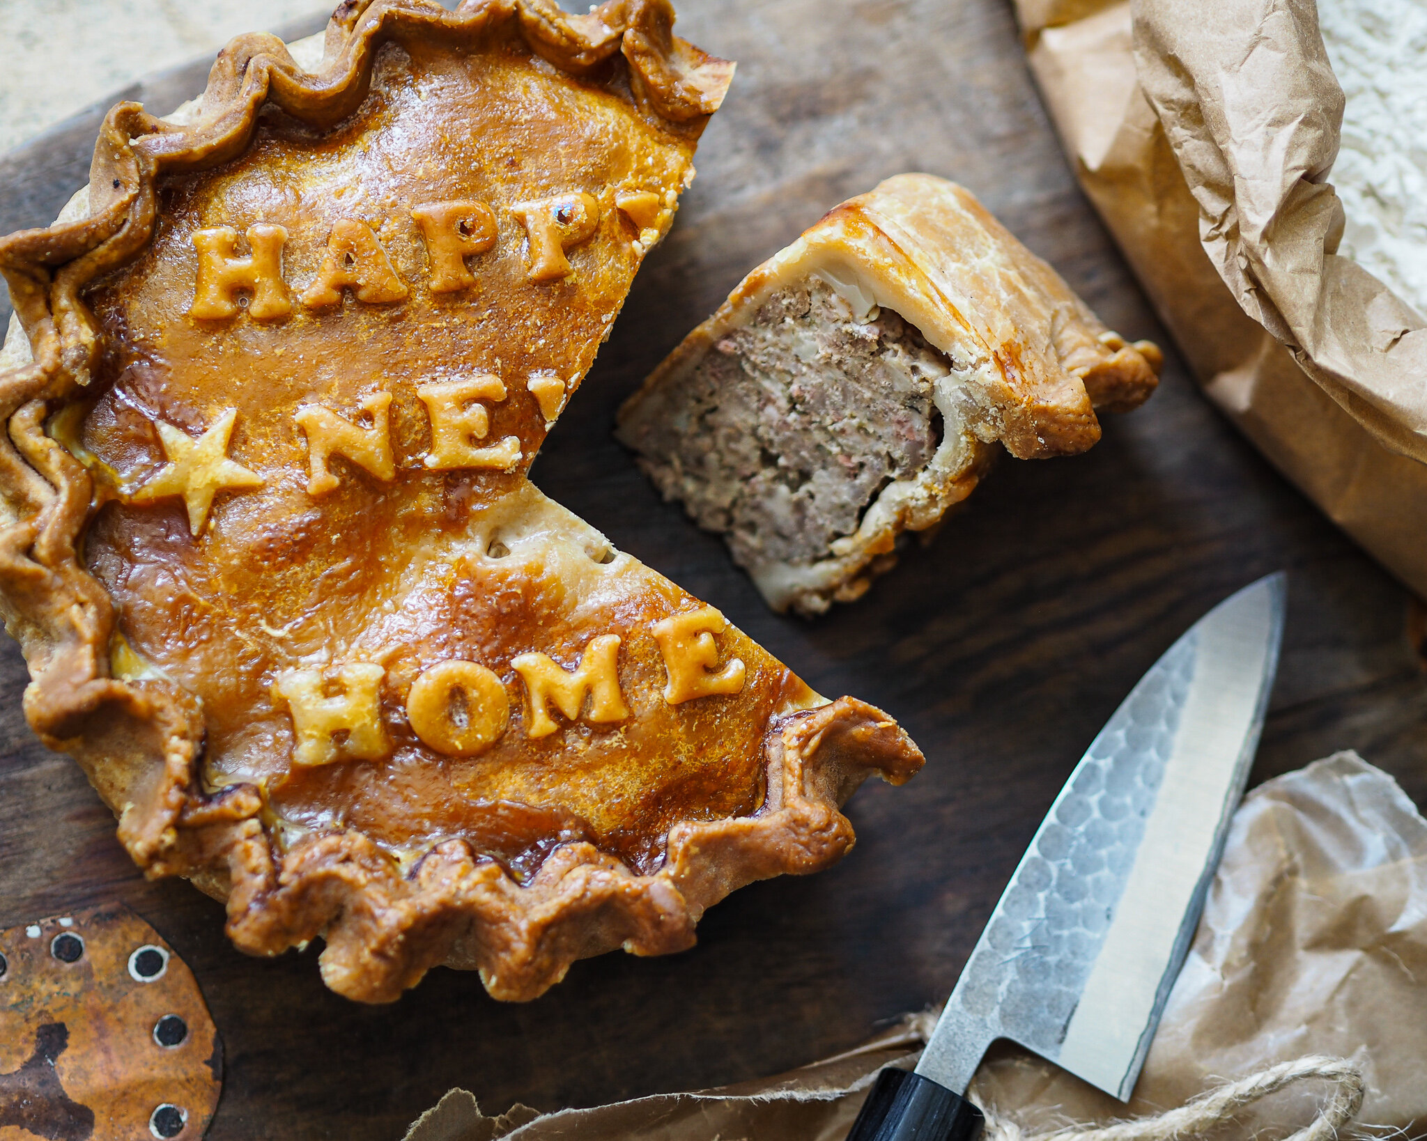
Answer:
<svg viewBox="0 0 1427 1141"><path fill-rule="evenodd" d="M482 1117L452 1090L407 1141L838 1141L883 1065L915 1064L932 1018L765 1081L539 1115ZM1029 1131L1182 1105L1304 1054L1357 1061L1359 1125L1427 1128L1427 820L1387 773L1337 753L1253 790L1129 1107L1006 1044L972 1095ZM1260 1102L1236 1135L1283 1137L1326 1090Z"/></svg>

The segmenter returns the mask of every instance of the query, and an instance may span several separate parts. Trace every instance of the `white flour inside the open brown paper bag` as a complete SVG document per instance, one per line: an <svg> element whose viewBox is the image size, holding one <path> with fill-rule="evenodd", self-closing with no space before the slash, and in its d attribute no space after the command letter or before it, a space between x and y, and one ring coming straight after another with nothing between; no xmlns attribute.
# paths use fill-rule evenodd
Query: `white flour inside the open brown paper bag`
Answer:
<svg viewBox="0 0 1427 1141"><path fill-rule="evenodd" d="M1344 254L1427 314L1427 0L1319 0L1347 107Z"/></svg>

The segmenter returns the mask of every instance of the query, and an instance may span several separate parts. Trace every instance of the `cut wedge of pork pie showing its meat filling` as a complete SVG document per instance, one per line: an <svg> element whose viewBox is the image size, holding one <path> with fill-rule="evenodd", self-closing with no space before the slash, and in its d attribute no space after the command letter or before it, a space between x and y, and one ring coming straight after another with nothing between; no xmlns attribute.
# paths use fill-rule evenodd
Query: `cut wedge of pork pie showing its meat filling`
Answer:
<svg viewBox="0 0 1427 1141"><path fill-rule="evenodd" d="M769 606L821 613L970 495L996 441L1083 452L1095 409L1143 402L1160 359L966 190L902 174L743 278L625 404L619 438Z"/></svg>

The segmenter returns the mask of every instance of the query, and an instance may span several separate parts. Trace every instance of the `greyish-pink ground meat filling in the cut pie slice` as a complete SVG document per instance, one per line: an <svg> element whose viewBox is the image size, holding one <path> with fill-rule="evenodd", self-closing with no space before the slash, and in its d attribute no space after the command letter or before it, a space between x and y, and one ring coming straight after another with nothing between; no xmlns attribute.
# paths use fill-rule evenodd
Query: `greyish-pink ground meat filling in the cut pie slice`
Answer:
<svg viewBox="0 0 1427 1141"><path fill-rule="evenodd" d="M675 432L646 442L649 458L679 474L689 512L728 532L741 565L812 563L858 529L878 492L932 458L932 382L948 372L895 312L859 321L808 280L712 345L681 392Z"/></svg>

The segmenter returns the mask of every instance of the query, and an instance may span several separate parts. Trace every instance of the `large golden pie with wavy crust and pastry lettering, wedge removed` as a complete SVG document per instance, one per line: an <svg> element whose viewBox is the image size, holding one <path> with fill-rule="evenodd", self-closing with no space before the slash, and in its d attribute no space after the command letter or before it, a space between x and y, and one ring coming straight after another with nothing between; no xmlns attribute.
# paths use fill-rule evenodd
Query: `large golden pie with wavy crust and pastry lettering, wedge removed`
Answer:
<svg viewBox="0 0 1427 1141"><path fill-rule="evenodd" d="M147 874L352 998L688 947L922 763L525 478L732 74L672 23L347 0L308 67L247 36L177 121L117 106L0 241L29 722Z"/></svg>

